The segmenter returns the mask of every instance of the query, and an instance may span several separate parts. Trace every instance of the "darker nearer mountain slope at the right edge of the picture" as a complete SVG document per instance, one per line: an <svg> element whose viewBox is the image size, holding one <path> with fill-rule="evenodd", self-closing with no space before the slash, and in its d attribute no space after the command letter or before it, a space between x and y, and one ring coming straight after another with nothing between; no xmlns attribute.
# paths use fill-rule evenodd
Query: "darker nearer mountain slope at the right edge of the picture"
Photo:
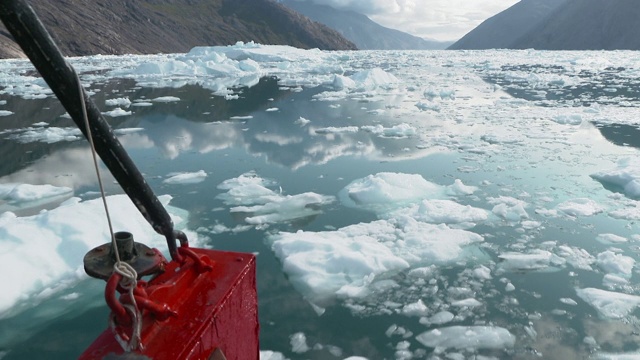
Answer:
<svg viewBox="0 0 640 360"><path fill-rule="evenodd" d="M512 48L640 50L639 5L638 0L568 0Z"/></svg>

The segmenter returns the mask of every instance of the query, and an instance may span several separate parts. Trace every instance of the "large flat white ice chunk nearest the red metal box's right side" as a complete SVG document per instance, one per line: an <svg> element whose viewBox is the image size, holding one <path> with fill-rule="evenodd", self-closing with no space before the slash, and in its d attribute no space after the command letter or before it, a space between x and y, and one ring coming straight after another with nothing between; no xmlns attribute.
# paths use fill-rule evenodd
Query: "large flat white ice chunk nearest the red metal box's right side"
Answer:
<svg viewBox="0 0 640 360"><path fill-rule="evenodd" d="M278 233L272 249L296 288L311 302L366 295L373 277L410 264L459 259L464 247L483 241L475 233L407 217L350 225L336 231ZM353 287L361 291L355 292ZM345 289L341 291L341 289Z"/></svg>

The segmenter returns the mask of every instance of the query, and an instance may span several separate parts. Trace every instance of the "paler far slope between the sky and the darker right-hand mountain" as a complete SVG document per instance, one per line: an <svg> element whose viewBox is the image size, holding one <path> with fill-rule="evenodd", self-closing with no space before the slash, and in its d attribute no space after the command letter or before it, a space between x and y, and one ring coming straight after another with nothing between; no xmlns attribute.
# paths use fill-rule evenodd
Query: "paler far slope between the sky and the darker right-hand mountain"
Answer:
<svg viewBox="0 0 640 360"><path fill-rule="evenodd" d="M533 34L532 30L548 19L568 0L521 0L494 15L449 47L450 50L508 49ZM583 0L578 0L583 1ZM605 2L603 0L595 0ZM615 0L618 1L618 0ZM588 22L591 19L586 18Z"/></svg>

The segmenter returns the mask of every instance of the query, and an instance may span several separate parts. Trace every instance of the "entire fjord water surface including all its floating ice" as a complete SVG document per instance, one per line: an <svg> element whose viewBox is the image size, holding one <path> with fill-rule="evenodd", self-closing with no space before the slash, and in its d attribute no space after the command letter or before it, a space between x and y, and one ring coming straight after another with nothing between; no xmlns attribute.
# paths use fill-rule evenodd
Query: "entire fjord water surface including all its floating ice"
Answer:
<svg viewBox="0 0 640 360"><path fill-rule="evenodd" d="M638 355L633 52L237 44L71 62L194 246L257 254L264 359ZM0 62L0 358L106 328L91 153ZM166 252L103 168L117 230Z"/></svg>

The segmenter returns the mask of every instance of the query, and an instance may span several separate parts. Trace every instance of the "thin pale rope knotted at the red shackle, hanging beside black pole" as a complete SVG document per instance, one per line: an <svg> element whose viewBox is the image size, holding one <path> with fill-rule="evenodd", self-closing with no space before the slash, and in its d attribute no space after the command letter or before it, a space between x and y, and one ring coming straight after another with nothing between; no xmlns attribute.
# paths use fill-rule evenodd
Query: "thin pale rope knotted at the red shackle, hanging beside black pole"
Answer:
<svg viewBox="0 0 640 360"><path fill-rule="evenodd" d="M102 204L104 205L104 211L107 215L107 223L109 224L109 234L111 235L111 246L113 247L114 253L116 255L116 263L113 265L113 271L122 275L122 280L120 281L120 286L126 289L129 292L129 298L131 299L131 305L124 305L125 308L131 314L131 324L133 327L133 333L131 338L129 339L129 343L125 344L124 340L120 337L120 334L115 331L115 324L113 324L113 319L111 319L111 328L114 331L116 341L120 344L122 349L126 352L130 352L133 350L137 350L138 348L142 349L142 343L140 341L140 331L142 329L142 314L138 309L138 304L136 304L136 298L134 297L133 290L136 288L138 283L138 274L136 270L126 262L120 261L120 253L118 252L118 246L116 244L116 237L113 233L113 225L111 224L111 216L109 215L109 207L107 206L107 197L105 196L104 186L102 184L102 178L100 176L100 167L98 166L98 158L96 156L96 147L93 142L93 135L91 133L91 128L89 127L89 117L87 116L87 106L84 101L84 89L82 87L82 83L80 82L80 77L76 78L78 80L78 92L80 94L80 104L82 106L82 117L84 119L84 125L87 132L87 139L89 140L89 145L91 146L91 155L93 157L93 165L96 170L96 176L98 177L98 186L100 187L100 194L102 196Z"/></svg>

